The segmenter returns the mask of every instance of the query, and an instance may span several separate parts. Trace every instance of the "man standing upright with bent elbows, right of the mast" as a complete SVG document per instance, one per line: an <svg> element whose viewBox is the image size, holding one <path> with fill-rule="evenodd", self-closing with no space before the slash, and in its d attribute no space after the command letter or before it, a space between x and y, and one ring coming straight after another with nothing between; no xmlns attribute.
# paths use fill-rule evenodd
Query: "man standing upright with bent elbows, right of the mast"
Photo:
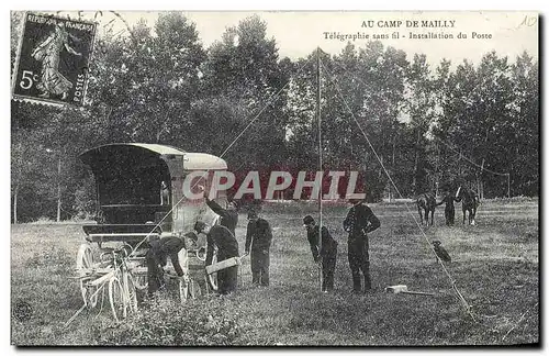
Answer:
<svg viewBox="0 0 549 356"><path fill-rule="evenodd" d="M362 200L349 200L354 207L347 213L344 221L344 230L349 233L348 257L352 274L352 291L361 291L360 270L365 277L365 292L372 288L370 278L370 256L368 253L368 233L380 226L379 219Z"/></svg>

